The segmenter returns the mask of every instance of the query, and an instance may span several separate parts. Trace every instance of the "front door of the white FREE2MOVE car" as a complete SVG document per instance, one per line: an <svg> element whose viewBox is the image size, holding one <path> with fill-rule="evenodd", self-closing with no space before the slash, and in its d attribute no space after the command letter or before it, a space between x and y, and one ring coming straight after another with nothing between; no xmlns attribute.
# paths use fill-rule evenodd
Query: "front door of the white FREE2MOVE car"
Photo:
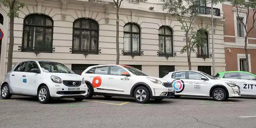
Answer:
<svg viewBox="0 0 256 128"><path fill-rule="evenodd" d="M208 96L210 81L201 79L203 76L204 76L203 74L198 72L193 72L193 71L188 72L187 93L189 95Z"/></svg>

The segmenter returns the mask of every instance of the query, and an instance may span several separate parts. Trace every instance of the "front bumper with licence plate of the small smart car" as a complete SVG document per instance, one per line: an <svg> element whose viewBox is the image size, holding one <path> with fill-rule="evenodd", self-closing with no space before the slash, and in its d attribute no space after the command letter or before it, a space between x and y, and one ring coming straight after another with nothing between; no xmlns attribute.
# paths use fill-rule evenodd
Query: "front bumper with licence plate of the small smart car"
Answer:
<svg viewBox="0 0 256 128"><path fill-rule="evenodd" d="M81 84L79 87L68 87L64 84L54 84L50 88L51 97L55 98L76 98L84 97L88 93L86 84Z"/></svg>

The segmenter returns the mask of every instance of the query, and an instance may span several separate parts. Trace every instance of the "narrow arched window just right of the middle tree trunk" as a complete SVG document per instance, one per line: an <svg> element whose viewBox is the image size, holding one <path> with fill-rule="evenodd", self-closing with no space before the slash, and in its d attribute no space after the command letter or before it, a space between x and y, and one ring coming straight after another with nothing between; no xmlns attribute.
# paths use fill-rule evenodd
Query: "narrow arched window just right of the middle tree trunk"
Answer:
<svg viewBox="0 0 256 128"><path fill-rule="evenodd" d="M123 55L131 55L131 53L140 55L140 52L140 27L135 23L126 23L124 26Z"/></svg>

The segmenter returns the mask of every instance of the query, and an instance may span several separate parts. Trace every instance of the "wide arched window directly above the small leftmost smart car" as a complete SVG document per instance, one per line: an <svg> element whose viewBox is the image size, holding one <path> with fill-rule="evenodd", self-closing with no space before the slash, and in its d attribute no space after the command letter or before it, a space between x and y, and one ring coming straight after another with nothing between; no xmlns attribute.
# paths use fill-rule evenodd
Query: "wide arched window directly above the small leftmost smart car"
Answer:
<svg viewBox="0 0 256 128"><path fill-rule="evenodd" d="M47 15L31 14L23 24L23 52L52 52L53 20Z"/></svg>

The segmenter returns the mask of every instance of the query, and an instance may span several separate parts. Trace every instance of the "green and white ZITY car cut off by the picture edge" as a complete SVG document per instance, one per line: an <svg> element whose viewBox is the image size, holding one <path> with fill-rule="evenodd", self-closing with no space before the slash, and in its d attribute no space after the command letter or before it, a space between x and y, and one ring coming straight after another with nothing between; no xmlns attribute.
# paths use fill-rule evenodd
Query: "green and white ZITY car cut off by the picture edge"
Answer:
<svg viewBox="0 0 256 128"><path fill-rule="evenodd" d="M256 74L244 71L226 71L218 72L215 78L239 85L241 96L256 96Z"/></svg>

